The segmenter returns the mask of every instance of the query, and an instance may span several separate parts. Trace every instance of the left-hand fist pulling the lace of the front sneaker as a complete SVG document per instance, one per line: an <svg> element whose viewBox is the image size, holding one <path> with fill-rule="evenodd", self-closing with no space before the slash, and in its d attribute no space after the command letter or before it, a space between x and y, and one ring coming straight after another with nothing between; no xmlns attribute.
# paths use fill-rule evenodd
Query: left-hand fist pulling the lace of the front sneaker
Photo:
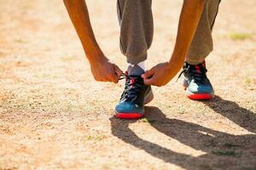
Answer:
<svg viewBox="0 0 256 170"><path fill-rule="evenodd" d="M119 82L122 72L119 67L108 59L96 60L90 63L90 70L98 82Z"/></svg>

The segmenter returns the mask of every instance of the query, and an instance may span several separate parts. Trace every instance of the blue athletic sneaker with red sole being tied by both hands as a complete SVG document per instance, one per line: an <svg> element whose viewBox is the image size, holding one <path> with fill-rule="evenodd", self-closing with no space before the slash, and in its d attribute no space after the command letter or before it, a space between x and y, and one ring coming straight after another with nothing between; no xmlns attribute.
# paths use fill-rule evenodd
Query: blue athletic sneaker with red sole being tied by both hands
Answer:
<svg viewBox="0 0 256 170"><path fill-rule="evenodd" d="M135 65L125 73L125 91L115 107L115 116L122 119L138 119L144 115L144 105L153 98L150 86L146 86L141 75L143 69Z"/></svg>

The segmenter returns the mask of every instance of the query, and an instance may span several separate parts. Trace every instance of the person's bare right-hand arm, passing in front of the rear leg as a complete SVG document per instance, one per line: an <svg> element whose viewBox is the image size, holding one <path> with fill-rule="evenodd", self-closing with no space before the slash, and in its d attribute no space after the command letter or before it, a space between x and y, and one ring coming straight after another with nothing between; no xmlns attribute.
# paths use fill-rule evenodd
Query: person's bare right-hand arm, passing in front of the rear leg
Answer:
<svg viewBox="0 0 256 170"><path fill-rule="evenodd" d="M177 39L172 57L169 62L155 65L143 75L145 84L164 86L172 80L182 68L190 43L201 18L205 0L183 0L177 30Z"/></svg>

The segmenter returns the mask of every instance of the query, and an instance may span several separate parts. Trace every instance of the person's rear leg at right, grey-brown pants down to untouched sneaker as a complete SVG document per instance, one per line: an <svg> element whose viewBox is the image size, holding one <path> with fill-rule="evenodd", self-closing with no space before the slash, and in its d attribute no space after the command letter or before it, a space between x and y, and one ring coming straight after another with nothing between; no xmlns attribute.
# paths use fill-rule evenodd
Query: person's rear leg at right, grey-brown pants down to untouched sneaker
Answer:
<svg viewBox="0 0 256 170"><path fill-rule="evenodd" d="M212 27L218 14L220 0L206 0L201 20L191 42L183 67L183 85L189 99L212 99L214 91L207 79L205 59L212 52Z"/></svg>

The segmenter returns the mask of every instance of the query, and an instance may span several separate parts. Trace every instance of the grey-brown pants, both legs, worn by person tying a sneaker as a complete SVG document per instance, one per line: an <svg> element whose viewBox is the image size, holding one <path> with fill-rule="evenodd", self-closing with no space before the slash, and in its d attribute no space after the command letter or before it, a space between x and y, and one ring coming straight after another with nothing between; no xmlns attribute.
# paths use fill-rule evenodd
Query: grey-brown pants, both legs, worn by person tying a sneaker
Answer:
<svg viewBox="0 0 256 170"><path fill-rule="evenodd" d="M218 14L220 0L206 0L201 20L191 42L186 61L200 64L213 48L212 27ZM147 59L153 40L152 0L118 0L120 48L132 65Z"/></svg>

